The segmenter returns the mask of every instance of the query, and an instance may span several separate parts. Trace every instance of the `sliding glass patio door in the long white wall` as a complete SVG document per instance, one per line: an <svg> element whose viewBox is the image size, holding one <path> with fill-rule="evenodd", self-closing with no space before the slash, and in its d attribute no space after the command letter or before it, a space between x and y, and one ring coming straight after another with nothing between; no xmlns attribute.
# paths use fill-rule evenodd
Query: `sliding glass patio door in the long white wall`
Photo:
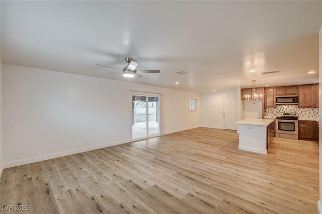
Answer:
<svg viewBox="0 0 322 214"><path fill-rule="evenodd" d="M159 133L158 97L132 95L132 139Z"/></svg>

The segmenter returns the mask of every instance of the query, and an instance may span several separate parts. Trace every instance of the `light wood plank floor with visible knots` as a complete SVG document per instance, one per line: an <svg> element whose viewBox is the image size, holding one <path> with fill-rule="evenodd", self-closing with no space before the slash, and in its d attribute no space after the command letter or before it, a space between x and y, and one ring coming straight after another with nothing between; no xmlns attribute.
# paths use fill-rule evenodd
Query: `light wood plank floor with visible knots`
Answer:
<svg viewBox="0 0 322 214"><path fill-rule="evenodd" d="M317 213L318 144L275 138L267 156L235 131L196 128L5 169L21 213ZM16 213L16 211L2 211Z"/></svg>

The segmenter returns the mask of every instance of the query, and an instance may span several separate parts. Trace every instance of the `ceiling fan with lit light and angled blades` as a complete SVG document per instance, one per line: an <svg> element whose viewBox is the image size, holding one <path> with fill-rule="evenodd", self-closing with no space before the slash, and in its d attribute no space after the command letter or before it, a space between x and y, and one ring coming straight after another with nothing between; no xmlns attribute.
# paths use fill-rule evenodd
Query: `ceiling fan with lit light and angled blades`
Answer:
<svg viewBox="0 0 322 214"><path fill-rule="evenodd" d="M135 68L137 67L137 65L139 65L139 63L135 62L132 58L125 58L125 61L128 63L128 65L126 67L124 67L123 69L116 68L116 67L110 67L110 66L103 65L103 64L96 64L96 65L122 70L123 77L127 77L127 78L133 78L134 75L136 75L138 78L141 78L143 76L140 74L143 74L143 73L160 73L160 70L135 70ZM108 75L119 74L119 73L120 72L110 73Z"/></svg>

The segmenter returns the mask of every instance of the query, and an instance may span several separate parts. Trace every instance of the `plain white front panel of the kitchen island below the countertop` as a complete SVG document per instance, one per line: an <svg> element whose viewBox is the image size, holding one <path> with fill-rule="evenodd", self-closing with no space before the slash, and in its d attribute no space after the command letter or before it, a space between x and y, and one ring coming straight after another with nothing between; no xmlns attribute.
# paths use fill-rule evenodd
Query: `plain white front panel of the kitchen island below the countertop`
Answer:
<svg viewBox="0 0 322 214"><path fill-rule="evenodd" d="M239 125L239 150L267 154L267 126Z"/></svg>

